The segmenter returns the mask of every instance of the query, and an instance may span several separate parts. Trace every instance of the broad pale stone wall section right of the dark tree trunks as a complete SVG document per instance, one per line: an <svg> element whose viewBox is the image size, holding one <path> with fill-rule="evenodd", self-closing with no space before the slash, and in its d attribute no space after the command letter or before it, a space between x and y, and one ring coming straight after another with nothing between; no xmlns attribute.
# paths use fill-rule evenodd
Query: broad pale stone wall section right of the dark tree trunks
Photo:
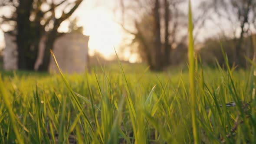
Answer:
<svg viewBox="0 0 256 144"><path fill-rule="evenodd" d="M79 33L67 33L56 40L53 53L63 72L85 72L88 56L88 42L89 36L84 36ZM57 71L57 67L51 57L50 72L54 71Z"/></svg>

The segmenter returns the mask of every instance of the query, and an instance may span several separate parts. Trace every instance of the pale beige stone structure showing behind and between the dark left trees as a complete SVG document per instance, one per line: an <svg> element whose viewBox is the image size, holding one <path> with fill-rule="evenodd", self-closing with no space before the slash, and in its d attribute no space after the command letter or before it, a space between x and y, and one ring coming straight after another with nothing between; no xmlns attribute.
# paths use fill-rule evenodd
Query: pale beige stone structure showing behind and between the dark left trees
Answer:
<svg viewBox="0 0 256 144"><path fill-rule="evenodd" d="M17 69L17 47L15 36L5 33L6 48L4 49L4 69ZM56 39L54 43L53 53L56 56L59 67L62 72L80 73L85 72L88 59L88 42L89 36L81 33L65 33ZM35 63L35 70L42 64L43 52L45 48L45 38L39 43L38 58ZM49 65L50 72L56 72L57 68L52 57Z"/></svg>

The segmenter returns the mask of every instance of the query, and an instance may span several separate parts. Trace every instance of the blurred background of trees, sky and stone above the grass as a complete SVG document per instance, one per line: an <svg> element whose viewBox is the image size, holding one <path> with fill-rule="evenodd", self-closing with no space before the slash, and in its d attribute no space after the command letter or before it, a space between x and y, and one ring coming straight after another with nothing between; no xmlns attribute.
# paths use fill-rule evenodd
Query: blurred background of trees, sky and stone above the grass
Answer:
<svg viewBox="0 0 256 144"><path fill-rule="evenodd" d="M203 65L246 69L253 59L256 0L191 0ZM65 72L98 61L163 71L187 63L188 0L0 0L0 69Z"/></svg>

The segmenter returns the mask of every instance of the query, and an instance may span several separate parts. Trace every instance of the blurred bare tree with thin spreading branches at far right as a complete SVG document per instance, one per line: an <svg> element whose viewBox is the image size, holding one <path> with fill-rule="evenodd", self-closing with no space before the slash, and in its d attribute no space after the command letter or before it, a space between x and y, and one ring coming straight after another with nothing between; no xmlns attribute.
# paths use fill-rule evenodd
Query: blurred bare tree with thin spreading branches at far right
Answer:
<svg viewBox="0 0 256 144"><path fill-rule="evenodd" d="M230 22L233 26L233 62L241 68L246 67L246 47L243 47L245 36L249 36L252 28L256 26L256 0L213 0L204 2L202 9L214 10L219 18ZM207 5L207 7L205 7ZM213 15L213 14L212 14ZM240 29L240 30L238 30ZM224 31L228 31L225 29ZM236 36L236 33L239 36ZM229 39L229 38L227 38ZM238 39L238 40L236 40Z"/></svg>

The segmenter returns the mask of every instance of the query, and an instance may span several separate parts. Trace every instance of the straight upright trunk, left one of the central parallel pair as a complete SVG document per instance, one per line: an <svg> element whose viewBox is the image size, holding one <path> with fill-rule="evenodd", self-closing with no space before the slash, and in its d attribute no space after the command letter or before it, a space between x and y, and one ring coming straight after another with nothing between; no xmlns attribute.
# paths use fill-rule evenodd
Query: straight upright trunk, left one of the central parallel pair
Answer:
<svg viewBox="0 0 256 144"><path fill-rule="evenodd" d="M154 38L154 48L153 48L153 62L154 67L152 70L161 71L161 33L160 33L160 14L159 14L159 0L155 0L154 7L154 22L155 22L155 38Z"/></svg>

